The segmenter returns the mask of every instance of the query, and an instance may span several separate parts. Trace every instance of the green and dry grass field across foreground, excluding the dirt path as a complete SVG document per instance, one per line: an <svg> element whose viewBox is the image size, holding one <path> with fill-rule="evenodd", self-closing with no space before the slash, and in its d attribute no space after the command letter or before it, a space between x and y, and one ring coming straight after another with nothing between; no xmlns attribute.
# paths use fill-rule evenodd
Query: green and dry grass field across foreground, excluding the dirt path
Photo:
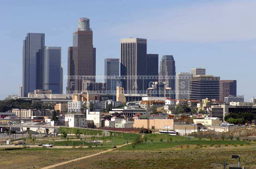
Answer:
<svg viewBox="0 0 256 169"><path fill-rule="evenodd" d="M36 140L40 143L50 143L63 148L36 147L21 150L0 151L0 168L40 168L91 155L113 148L113 144L131 143L138 134L124 133L118 136L97 137L95 140L105 140L92 148L65 148L66 141ZM147 138L147 139L145 139ZM164 134L146 134L141 138L143 143L132 144L100 154L95 157L71 162L57 168L214 168L211 163L223 163L227 160L236 163L231 154L240 154L242 165L246 168L256 168L256 143L240 140L207 140L170 136ZM146 142L147 140L147 142ZM166 140L166 141L165 141ZM85 143L84 140L73 140L73 145ZM72 141L68 141L72 145ZM93 145L93 144L92 144ZM94 144L95 145L95 144Z"/></svg>

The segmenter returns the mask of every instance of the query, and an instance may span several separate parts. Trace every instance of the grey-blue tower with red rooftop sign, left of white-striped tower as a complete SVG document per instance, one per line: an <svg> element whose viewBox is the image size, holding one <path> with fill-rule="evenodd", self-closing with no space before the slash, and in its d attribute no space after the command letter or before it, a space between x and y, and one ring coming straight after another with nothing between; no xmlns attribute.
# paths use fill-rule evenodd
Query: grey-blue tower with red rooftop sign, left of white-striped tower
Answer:
<svg viewBox="0 0 256 169"><path fill-rule="evenodd" d="M107 93L116 93L116 86L119 86L119 59L105 59L105 83Z"/></svg>

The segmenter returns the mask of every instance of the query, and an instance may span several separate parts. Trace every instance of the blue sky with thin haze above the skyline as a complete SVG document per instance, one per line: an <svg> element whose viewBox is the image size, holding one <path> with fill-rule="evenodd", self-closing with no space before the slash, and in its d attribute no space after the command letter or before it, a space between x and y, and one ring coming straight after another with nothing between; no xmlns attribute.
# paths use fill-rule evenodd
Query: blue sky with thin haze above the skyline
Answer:
<svg viewBox="0 0 256 169"><path fill-rule="evenodd" d="M237 95L249 102L256 96L255 7L256 1L247 0L3 1L0 100L18 94L28 32L45 33L45 46L61 46L66 76L68 46L78 18L86 17L96 47L96 74L104 74L105 58L120 58L121 38L145 38L147 53L159 54L159 60L173 55L176 73L204 67L221 80L237 80Z"/></svg>

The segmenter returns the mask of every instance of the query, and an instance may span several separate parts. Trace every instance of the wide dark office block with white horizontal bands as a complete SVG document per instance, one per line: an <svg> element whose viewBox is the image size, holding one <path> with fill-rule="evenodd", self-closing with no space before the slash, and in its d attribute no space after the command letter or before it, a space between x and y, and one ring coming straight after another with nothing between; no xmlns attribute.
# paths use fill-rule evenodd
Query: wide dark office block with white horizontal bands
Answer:
<svg viewBox="0 0 256 169"><path fill-rule="evenodd" d="M220 99L220 77L196 75L188 81L188 99Z"/></svg>

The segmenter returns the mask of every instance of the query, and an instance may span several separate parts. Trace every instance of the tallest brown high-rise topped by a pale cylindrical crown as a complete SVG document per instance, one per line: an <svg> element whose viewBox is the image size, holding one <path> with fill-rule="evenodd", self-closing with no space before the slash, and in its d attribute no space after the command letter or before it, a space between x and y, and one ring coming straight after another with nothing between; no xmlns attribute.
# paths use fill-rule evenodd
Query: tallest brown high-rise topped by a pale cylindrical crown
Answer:
<svg viewBox="0 0 256 169"><path fill-rule="evenodd" d="M95 81L95 60L90 20L79 18L78 28L73 33L73 47L68 48L68 94L80 93L83 79Z"/></svg>

